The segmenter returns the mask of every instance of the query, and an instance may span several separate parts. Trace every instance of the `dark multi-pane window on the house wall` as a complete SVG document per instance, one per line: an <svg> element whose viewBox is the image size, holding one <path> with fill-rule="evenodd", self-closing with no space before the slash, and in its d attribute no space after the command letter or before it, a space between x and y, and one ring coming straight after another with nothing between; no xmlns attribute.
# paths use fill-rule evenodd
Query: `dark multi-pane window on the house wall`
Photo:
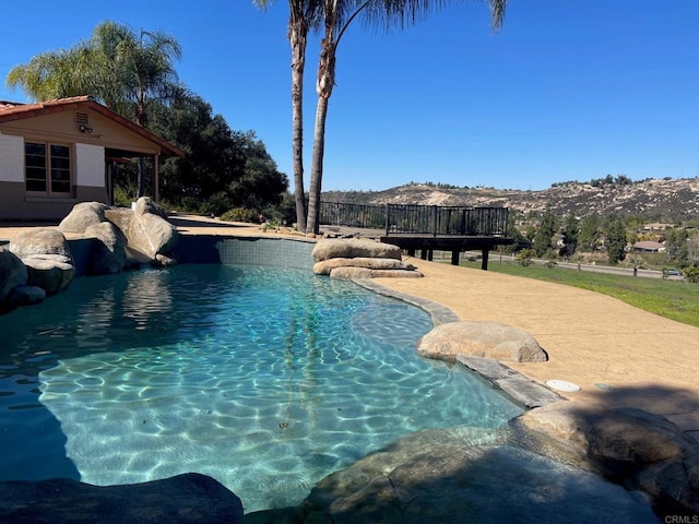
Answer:
<svg viewBox="0 0 699 524"><path fill-rule="evenodd" d="M26 191L67 196L71 192L70 145L24 143Z"/></svg>

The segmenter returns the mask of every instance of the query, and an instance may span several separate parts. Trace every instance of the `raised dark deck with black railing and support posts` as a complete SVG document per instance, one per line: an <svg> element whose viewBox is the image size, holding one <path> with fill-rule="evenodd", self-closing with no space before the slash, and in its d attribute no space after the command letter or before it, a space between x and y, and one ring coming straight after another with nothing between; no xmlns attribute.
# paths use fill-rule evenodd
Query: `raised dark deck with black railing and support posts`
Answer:
<svg viewBox="0 0 699 524"><path fill-rule="evenodd" d="M363 205L321 202L320 223L360 229L365 236L393 243L423 259L433 251L451 251L451 263L459 254L481 250L482 269L488 269L488 253L496 246L512 243L508 237L507 207L454 205L386 204Z"/></svg>

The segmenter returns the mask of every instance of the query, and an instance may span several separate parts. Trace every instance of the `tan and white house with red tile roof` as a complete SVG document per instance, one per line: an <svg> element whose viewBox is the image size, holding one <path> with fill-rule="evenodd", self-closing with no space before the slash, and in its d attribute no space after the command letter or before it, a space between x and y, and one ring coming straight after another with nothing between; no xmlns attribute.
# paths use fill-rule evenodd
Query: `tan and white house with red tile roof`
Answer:
<svg viewBox="0 0 699 524"><path fill-rule="evenodd" d="M79 202L111 203L118 162L185 153L88 96L0 100L0 219L60 219Z"/></svg>

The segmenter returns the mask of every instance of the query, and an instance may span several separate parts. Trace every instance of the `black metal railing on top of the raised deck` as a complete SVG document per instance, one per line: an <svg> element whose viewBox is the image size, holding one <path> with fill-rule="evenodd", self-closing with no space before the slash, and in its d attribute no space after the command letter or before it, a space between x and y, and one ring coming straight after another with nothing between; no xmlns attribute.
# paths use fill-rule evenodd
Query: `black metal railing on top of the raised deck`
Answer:
<svg viewBox="0 0 699 524"><path fill-rule="evenodd" d="M320 223L391 235L507 236L507 207L320 203Z"/></svg>

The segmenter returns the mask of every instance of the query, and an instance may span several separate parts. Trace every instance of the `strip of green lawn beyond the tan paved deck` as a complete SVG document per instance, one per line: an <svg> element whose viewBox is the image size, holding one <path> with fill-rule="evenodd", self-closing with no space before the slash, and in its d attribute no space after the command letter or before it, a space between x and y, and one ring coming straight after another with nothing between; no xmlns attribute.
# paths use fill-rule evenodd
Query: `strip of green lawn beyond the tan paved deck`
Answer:
<svg viewBox="0 0 699 524"><path fill-rule="evenodd" d="M481 261L462 262L465 267L481 267ZM699 285L684 281L663 281L633 276L606 275L585 271L522 266L490 260L488 271L537 278L602 293L644 311L699 327Z"/></svg>

